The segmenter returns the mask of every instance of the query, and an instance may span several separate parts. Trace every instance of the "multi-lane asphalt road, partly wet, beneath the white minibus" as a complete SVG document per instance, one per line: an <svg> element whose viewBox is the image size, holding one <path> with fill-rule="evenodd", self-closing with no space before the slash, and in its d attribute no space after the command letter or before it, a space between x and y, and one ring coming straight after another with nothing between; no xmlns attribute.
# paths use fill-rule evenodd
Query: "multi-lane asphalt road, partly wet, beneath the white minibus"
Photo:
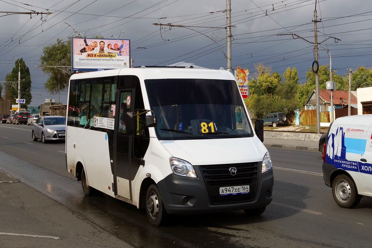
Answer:
<svg viewBox="0 0 372 248"><path fill-rule="evenodd" d="M343 209L325 186L321 153L268 148L273 202L261 216L243 211L175 216L154 227L144 210L109 196L83 197L66 171L64 143L31 139L31 126L0 124L0 169L133 247L371 247L372 199ZM0 215L1 223L1 215ZM1 238L1 237L0 237ZM117 242L117 241L115 241Z"/></svg>

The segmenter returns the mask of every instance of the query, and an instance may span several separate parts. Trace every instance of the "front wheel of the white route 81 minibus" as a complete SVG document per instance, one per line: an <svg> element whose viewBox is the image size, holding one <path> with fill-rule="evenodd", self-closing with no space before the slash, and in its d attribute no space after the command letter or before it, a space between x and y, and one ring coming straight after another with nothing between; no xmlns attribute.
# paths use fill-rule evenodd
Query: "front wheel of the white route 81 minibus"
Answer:
<svg viewBox="0 0 372 248"><path fill-rule="evenodd" d="M148 187L145 208L148 220L155 226L164 225L169 218L169 214L164 208L163 198L155 184Z"/></svg>

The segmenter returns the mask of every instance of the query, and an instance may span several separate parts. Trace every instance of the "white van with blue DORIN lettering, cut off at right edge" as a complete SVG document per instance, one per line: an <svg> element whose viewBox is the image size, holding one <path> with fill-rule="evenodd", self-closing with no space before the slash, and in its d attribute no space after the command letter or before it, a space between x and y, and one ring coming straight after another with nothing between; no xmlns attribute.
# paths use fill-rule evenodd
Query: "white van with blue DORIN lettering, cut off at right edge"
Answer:
<svg viewBox="0 0 372 248"><path fill-rule="evenodd" d="M323 179L341 207L355 207L372 196L372 115L337 118L328 129Z"/></svg>

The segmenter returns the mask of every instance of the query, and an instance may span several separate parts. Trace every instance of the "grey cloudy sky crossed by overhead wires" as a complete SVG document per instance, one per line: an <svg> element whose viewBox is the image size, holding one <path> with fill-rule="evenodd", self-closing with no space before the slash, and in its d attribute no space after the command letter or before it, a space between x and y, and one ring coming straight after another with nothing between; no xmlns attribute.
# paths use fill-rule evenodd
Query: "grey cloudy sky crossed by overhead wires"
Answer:
<svg viewBox="0 0 372 248"><path fill-rule="evenodd" d="M57 38L67 40L80 33L90 38L130 39L134 66L168 65L180 61L202 67L226 68L225 0L0 0L2 12L52 12L50 15L7 15L0 13L0 81L23 58L31 72L32 102L37 106L51 97L44 89L48 76L40 68L45 45ZM316 4L315 4L316 3ZM231 0L232 68L241 66L254 75L254 65L262 62L281 75L296 67L300 82L314 61L314 10L317 10L319 64L329 65L337 74L359 66L371 67L372 2L345 0ZM30 18L32 17L32 18ZM187 28L155 26L162 23ZM198 26L198 27L196 27ZM212 28L222 29L219 46L206 36ZM123 32L122 32L123 31ZM205 34L202 35L201 33ZM295 33L303 39L293 39ZM120 35L120 36L119 36ZM112 37L111 37L112 36ZM61 93L66 103L67 93Z"/></svg>

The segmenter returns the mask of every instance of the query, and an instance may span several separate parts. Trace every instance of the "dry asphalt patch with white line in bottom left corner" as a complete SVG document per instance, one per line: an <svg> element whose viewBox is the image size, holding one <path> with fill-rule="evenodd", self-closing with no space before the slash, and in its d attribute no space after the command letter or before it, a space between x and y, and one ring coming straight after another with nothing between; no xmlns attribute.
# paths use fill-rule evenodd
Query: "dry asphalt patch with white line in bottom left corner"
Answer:
<svg viewBox="0 0 372 248"><path fill-rule="evenodd" d="M0 170L0 247L131 247Z"/></svg>

